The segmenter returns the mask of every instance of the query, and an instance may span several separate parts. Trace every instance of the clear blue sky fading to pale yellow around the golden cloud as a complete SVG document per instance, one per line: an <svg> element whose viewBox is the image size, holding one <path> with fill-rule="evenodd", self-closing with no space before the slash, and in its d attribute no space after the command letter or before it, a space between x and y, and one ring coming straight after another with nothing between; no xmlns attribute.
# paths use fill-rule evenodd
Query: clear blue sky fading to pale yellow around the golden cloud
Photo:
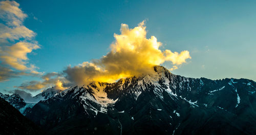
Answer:
<svg viewBox="0 0 256 135"><path fill-rule="evenodd" d="M172 71L185 77L256 80L256 3L254 1L16 1L28 15L24 26L34 31L40 49L28 54L38 72L65 70L110 52L120 25L136 27L146 20L147 37L160 50L188 50L191 59ZM171 62L164 62L172 68ZM0 92L24 81L0 83ZM4 92L5 93L5 92ZM33 94L38 93L33 92Z"/></svg>

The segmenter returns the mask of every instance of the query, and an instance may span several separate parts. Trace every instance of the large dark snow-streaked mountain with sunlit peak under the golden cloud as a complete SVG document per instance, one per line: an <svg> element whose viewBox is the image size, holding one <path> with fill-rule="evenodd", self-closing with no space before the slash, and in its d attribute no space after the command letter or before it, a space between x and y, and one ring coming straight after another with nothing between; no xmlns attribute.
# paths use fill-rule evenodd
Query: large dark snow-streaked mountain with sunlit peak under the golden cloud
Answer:
<svg viewBox="0 0 256 135"><path fill-rule="evenodd" d="M49 134L254 134L256 83L154 73L73 86L26 115Z"/></svg>

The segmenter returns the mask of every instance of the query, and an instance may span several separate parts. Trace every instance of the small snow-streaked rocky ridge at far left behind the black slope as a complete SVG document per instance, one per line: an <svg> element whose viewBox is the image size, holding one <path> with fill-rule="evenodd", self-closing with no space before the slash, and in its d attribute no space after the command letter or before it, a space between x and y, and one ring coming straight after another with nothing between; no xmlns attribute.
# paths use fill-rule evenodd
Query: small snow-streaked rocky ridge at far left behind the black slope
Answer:
<svg viewBox="0 0 256 135"><path fill-rule="evenodd" d="M18 94L7 95L0 93L0 97L9 102L16 109L23 108L26 105L24 100Z"/></svg>

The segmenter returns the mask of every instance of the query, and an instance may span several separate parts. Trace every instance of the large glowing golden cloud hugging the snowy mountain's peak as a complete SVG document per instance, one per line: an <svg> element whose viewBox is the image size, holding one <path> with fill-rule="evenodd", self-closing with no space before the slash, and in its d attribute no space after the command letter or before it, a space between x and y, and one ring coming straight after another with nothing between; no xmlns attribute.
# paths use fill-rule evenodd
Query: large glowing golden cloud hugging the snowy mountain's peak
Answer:
<svg viewBox="0 0 256 135"><path fill-rule="evenodd" d="M147 39L145 29L144 21L134 29L121 24L121 34L114 34L116 40L111 44L111 52L92 62L83 62L73 68L68 66L63 71L66 78L78 85L93 81L114 82L120 78L150 73L154 65L165 61L180 65L191 58L188 51L162 52L159 49L162 43L155 36ZM174 66L175 69L178 67Z"/></svg>

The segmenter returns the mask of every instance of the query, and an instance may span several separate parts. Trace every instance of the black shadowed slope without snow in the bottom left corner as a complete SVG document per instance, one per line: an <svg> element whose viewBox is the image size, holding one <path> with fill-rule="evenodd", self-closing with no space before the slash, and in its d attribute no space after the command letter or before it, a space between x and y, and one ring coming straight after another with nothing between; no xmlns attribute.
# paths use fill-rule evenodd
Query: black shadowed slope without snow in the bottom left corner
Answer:
<svg viewBox="0 0 256 135"><path fill-rule="evenodd" d="M3 98L0 98L0 121L0 134L43 134L38 126Z"/></svg>

